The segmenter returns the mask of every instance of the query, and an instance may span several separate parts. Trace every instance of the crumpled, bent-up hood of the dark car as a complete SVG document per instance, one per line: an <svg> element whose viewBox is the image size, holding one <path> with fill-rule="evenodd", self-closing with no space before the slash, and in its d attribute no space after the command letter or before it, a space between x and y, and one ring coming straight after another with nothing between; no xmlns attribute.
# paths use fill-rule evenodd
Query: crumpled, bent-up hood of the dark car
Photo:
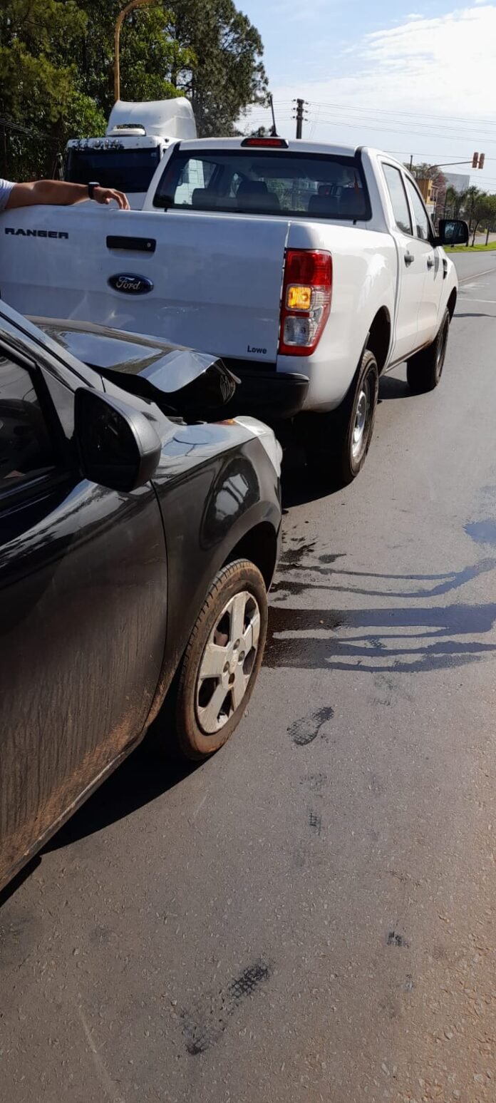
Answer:
<svg viewBox="0 0 496 1103"><path fill-rule="evenodd" d="M104 375L119 372L140 375L162 394L172 395L187 387L209 367L222 362L211 353L195 352L168 344L153 336L112 330L93 322L73 322L54 318L30 318L53 341L77 360ZM234 382L236 376L224 371Z"/></svg>

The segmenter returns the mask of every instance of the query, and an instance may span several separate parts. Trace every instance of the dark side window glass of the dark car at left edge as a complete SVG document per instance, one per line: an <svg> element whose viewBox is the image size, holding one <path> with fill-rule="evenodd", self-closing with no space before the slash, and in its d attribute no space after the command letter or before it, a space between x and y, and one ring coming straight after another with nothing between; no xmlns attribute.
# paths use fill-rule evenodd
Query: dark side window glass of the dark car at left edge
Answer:
<svg viewBox="0 0 496 1103"><path fill-rule="evenodd" d="M33 379L0 354L0 494L54 465L51 430Z"/></svg>

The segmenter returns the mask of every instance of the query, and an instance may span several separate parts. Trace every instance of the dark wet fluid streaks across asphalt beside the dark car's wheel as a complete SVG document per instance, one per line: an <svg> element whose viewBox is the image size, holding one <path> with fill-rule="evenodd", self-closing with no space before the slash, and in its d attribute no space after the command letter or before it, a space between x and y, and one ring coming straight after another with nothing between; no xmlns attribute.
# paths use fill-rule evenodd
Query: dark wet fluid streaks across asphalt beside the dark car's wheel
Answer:
<svg viewBox="0 0 496 1103"><path fill-rule="evenodd" d="M484 535L487 539L487 525ZM312 561L313 549L314 544L302 544L281 556L272 587L266 666L414 674L461 666L496 653L496 642L477 639L494 629L496 602L430 603L490 574L495 558L444 574L387 575L346 570L335 565L342 558L335 555ZM315 608L317 593L336 592L393 598L401 603L379 609ZM294 608L280 600L285 597L310 597L310 601ZM422 606L416 603L418 599L423 599Z"/></svg>

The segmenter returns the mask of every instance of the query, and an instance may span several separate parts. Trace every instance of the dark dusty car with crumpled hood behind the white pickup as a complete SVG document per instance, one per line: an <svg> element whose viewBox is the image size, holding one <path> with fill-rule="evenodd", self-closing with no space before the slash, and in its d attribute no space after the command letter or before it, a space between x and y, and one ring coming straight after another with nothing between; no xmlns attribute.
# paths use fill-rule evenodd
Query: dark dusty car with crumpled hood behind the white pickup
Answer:
<svg viewBox="0 0 496 1103"><path fill-rule="evenodd" d="M165 697L187 756L229 738L281 522L279 445L223 420L218 360L43 325L0 303L0 887Z"/></svg>

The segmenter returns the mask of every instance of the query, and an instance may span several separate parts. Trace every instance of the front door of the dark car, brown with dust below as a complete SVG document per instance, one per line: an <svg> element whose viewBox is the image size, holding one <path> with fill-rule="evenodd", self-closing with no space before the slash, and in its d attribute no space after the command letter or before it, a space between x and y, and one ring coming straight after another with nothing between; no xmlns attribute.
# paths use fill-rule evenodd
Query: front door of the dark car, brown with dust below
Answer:
<svg viewBox="0 0 496 1103"><path fill-rule="evenodd" d="M152 488L80 479L73 373L18 349L0 340L0 885L142 730L166 604Z"/></svg>

